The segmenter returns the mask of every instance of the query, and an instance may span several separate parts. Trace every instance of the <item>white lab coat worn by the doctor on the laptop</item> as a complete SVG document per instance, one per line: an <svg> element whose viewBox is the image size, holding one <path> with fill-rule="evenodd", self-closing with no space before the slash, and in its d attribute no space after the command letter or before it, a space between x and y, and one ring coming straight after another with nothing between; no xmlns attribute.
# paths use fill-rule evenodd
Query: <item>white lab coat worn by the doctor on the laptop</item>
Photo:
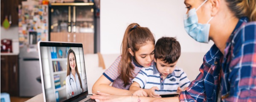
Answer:
<svg viewBox="0 0 256 102"><path fill-rule="evenodd" d="M84 91L86 91L85 89L85 83L84 83L84 80L81 76L81 74L79 73L80 75L80 78L81 78L81 82L82 82L82 88L84 89ZM73 96L76 96L76 95L79 95L82 93L82 89L80 87L80 82L79 82L79 78L78 78L78 74L76 74L76 80L74 78L74 76L71 74L70 72L70 75L68 75L66 77L66 92L67 92L67 99L73 97ZM72 78L72 79L71 79ZM71 82L71 85L70 85L70 82ZM72 94L74 93L74 94Z"/></svg>

